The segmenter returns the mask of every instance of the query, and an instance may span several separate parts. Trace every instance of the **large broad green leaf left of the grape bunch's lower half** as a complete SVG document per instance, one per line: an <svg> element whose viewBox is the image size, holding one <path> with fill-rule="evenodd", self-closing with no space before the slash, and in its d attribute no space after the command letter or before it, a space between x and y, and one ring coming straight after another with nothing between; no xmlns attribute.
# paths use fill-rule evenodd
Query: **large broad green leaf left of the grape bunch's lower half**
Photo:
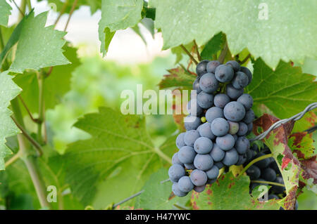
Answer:
<svg viewBox="0 0 317 224"><path fill-rule="evenodd" d="M104 206L138 192L151 173L170 157L151 143L144 117L101 107L75 127L92 136L68 146L66 180L85 206ZM164 150L169 150L168 148ZM127 188L127 186L129 186Z"/></svg>

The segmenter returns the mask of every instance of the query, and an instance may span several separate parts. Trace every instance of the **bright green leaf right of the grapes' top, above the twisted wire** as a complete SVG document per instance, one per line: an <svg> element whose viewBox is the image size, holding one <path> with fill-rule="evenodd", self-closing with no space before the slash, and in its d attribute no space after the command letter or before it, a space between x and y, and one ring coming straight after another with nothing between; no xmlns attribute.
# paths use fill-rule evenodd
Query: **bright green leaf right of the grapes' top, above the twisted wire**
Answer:
<svg viewBox="0 0 317 224"><path fill-rule="evenodd" d="M285 119L302 112L307 105L317 101L316 77L303 74L300 67L280 62L275 71L263 60L254 62L251 84L245 89L254 99L254 112L261 115L262 105L276 117ZM304 131L304 130L301 130Z"/></svg>

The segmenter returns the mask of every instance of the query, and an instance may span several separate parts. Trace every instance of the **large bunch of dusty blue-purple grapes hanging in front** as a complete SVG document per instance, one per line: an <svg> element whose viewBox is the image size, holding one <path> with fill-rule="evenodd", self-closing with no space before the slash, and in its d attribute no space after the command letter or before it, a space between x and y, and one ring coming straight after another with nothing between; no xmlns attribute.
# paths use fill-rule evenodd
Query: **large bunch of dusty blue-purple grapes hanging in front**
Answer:
<svg viewBox="0 0 317 224"><path fill-rule="evenodd" d="M187 131L176 139L179 151L168 170L179 197L191 190L202 192L224 166L244 164L250 147L246 136L253 129L253 99L244 93L252 79L250 70L234 60L225 65L203 60L196 72L193 89L197 95L191 95L187 106Z"/></svg>

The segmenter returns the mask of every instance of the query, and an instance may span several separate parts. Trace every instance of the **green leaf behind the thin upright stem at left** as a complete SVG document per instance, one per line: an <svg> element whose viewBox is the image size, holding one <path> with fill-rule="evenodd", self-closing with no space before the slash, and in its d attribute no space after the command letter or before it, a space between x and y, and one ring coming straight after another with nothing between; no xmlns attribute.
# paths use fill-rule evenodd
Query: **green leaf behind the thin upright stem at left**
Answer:
<svg viewBox="0 0 317 224"><path fill-rule="evenodd" d="M49 77L44 79L44 102L46 109L52 109L61 102L63 95L70 90L70 79L76 67L80 66L80 60L77 58L77 48L73 48L70 44L63 46L64 55L71 62L68 65L58 65L53 68ZM48 72L50 69L46 68ZM39 111L39 84L37 74L33 71L27 71L23 74L18 74L15 83L23 88L21 97L27 104L30 112ZM21 105L23 108L23 105Z"/></svg>

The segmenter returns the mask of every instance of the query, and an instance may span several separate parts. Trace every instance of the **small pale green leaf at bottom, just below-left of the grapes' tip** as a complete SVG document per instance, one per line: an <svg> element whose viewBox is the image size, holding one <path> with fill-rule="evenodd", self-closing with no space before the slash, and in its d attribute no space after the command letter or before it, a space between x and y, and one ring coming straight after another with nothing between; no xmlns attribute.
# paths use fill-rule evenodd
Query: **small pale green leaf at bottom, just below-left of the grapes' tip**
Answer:
<svg viewBox="0 0 317 224"><path fill-rule="evenodd" d="M185 207L186 202L190 199L190 194L186 197L175 197L173 195L170 198L173 183L170 181L161 183L162 180L166 179L168 179L167 169L160 169L156 173L153 173L143 187L144 192L137 197L135 208L169 210L175 209L174 204Z"/></svg>

